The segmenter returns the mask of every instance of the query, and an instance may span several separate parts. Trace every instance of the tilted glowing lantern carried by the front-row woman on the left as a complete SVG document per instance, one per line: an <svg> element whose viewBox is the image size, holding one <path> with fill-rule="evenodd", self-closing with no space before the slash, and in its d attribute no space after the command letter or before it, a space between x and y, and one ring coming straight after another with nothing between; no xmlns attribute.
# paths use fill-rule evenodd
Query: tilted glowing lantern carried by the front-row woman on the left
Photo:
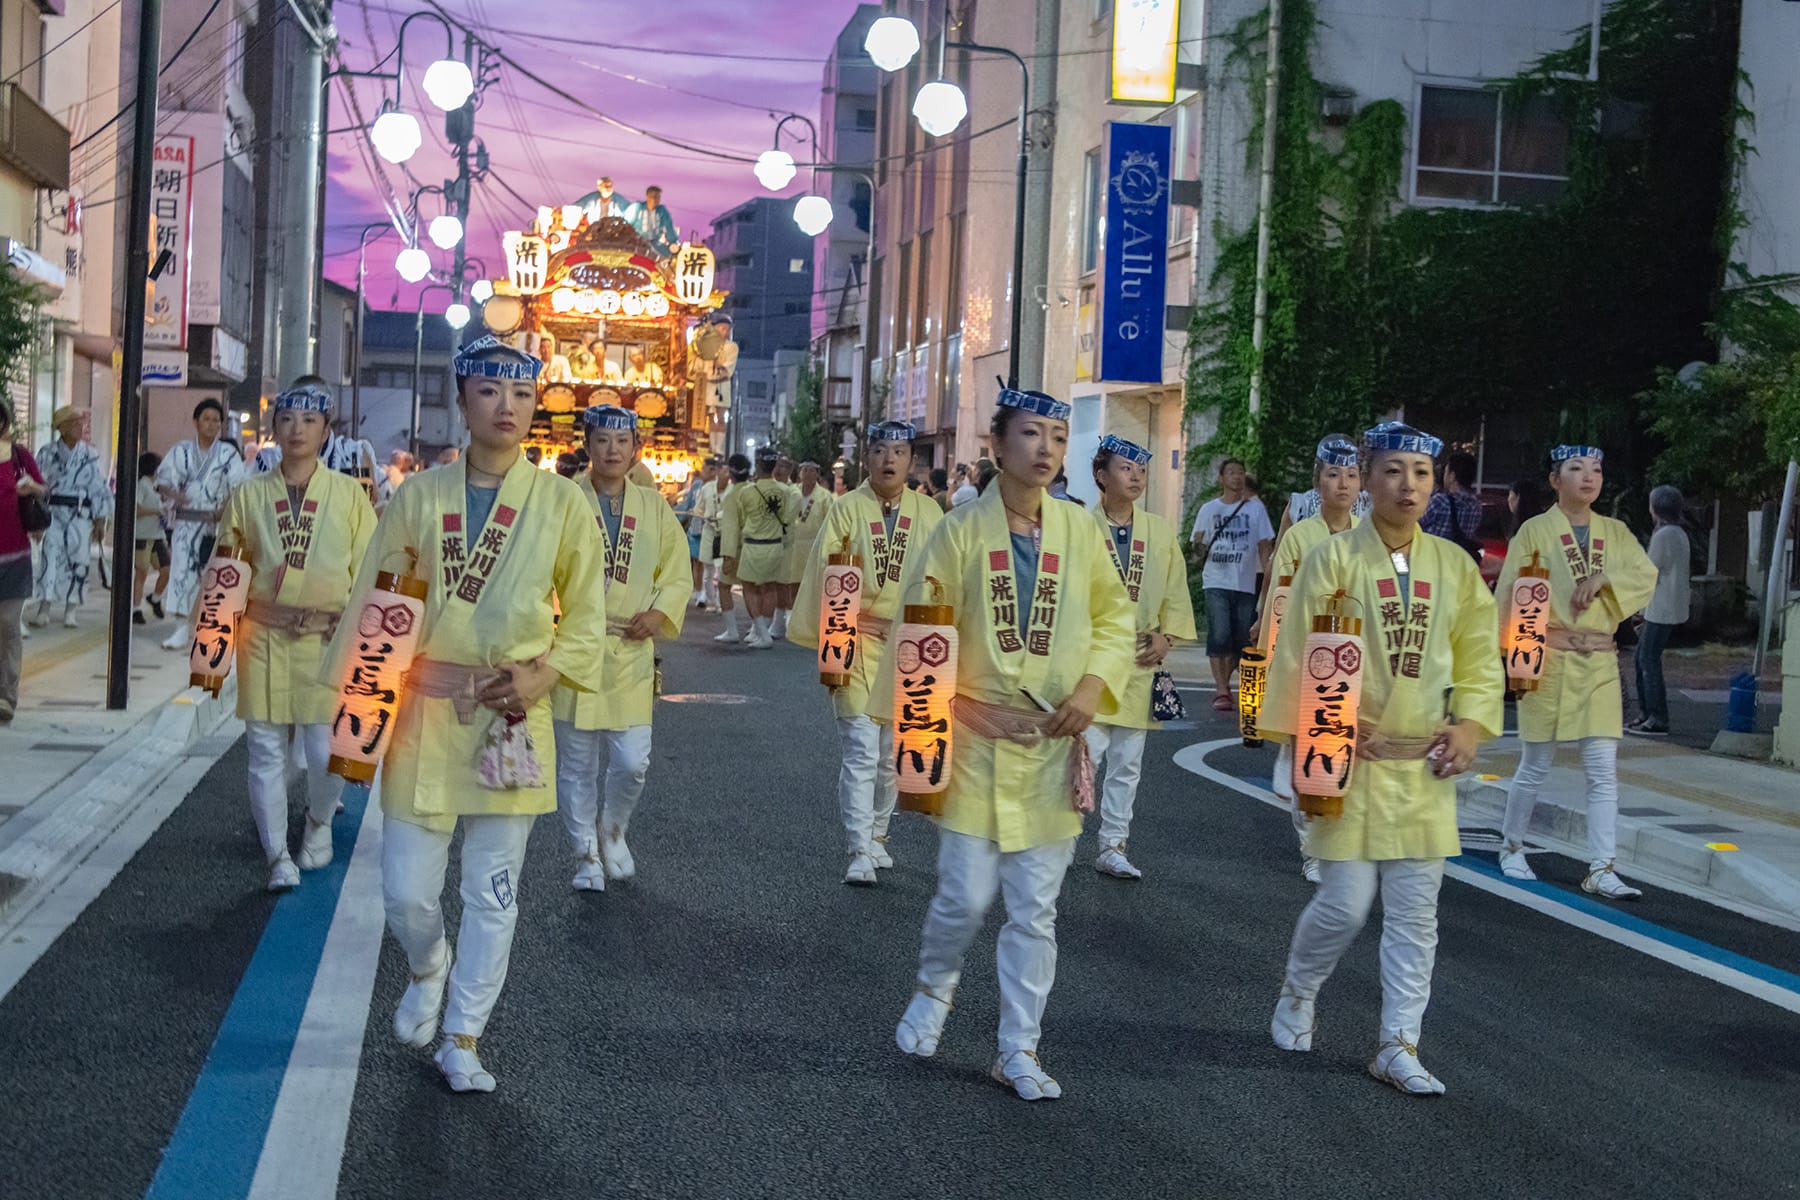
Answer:
<svg viewBox="0 0 1800 1200"><path fill-rule="evenodd" d="M356 642L349 651L338 711L331 718L333 775L371 783L387 754L400 712L400 694L425 622L425 579L383 570L356 613Z"/></svg>

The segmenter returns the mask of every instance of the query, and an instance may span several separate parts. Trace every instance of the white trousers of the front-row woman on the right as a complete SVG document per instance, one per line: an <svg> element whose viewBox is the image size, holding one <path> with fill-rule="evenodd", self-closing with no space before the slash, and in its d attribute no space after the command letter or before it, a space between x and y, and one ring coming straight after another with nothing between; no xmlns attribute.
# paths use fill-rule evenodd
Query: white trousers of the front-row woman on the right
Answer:
<svg viewBox="0 0 1800 1200"><path fill-rule="evenodd" d="M1363 930L1381 887L1381 1040L1418 1045L1438 957L1442 858L1321 862L1319 887L1287 952L1287 986L1312 1000Z"/></svg>

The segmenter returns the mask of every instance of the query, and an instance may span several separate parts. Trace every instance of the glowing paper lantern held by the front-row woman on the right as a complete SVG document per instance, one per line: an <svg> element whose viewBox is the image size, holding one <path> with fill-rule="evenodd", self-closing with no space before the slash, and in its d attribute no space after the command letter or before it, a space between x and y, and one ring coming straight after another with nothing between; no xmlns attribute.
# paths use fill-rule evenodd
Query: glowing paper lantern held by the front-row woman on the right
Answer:
<svg viewBox="0 0 1800 1200"><path fill-rule="evenodd" d="M1355 763L1355 720L1363 700L1363 621L1343 613L1339 592L1312 619L1300 658L1300 714L1294 723L1294 797L1309 817L1341 817Z"/></svg>

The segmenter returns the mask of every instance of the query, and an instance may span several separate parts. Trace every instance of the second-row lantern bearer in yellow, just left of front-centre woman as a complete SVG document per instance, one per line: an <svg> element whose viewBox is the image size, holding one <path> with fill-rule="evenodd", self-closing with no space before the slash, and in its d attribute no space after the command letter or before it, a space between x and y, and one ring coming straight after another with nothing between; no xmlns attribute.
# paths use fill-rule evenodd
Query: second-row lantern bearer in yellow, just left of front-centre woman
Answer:
<svg viewBox="0 0 1800 1200"><path fill-rule="evenodd" d="M887 649L887 635L900 621L902 572L943 520L936 504L905 486L907 471L913 470L914 437L918 430L909 421L869 426L864 450L868 479L837 498L824 515L806 556L806 574L788 626L792 642L819 646L824 567L832 554L844 552L848 545L850 554L862 563L862 588L855 658L844 671L850 682L832 689L837 741L844 748L844 765L837 774L837 811L850 849L844 883L875 883L877 867L895 865L887 853L887 822L893 820L898 799L895 734L891 725L869 720L869 689Z"/></svg>

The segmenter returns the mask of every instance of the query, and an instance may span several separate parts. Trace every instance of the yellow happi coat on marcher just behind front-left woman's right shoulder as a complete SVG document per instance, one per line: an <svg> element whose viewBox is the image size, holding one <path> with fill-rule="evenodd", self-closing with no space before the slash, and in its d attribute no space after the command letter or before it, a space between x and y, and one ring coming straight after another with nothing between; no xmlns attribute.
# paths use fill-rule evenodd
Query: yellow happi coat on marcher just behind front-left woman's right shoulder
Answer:
<svg viewBox="0 0 1800 1200"><path fill-rule="evenodd" d="M599 515L594 480L578 480L581 497L594 515L594 525L607 552L607 666L601 684L578 691L558 684L551 707L558 721L576 729L630 729L648 725L655 707L655 640L626 640L619 630L641 612L662 613L655 637L680 637L688 615L693 576L688 570L688 534L668 502L650 488L625 486L625 511L619 515L619 542L607 536ZM630 538L630 542L626 542Z"/></svg>

